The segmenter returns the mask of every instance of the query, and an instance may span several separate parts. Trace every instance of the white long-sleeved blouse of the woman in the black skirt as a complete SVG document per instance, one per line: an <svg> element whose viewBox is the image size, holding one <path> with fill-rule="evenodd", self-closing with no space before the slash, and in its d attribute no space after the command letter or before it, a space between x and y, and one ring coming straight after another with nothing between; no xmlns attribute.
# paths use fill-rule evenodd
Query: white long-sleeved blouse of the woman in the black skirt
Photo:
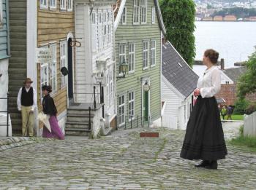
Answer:
<svg viewBox="0 0 256 190"><path fill-rule="evenodd" d="M202 98L211 98L217 95L221 87L221 74L217 66L207 69L197 82Z"/></svg>

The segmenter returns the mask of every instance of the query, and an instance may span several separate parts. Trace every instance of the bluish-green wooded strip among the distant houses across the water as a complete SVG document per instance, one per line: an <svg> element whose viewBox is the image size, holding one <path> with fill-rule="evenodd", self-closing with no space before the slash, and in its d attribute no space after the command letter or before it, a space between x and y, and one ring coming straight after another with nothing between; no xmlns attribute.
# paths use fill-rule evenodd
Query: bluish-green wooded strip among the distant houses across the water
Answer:
<svg viewBox="0 0 256 190"><path fill-rule="evenodd" d="M244 17L255 17L256 16L256 9L246 9L246 8L241 8L241 7L235 7L235 8L228 8L228 9L222 9L220 11L214 12L213 15L211 16L216 16L216 15L235 15L238 18L244 18Z"/></svg>

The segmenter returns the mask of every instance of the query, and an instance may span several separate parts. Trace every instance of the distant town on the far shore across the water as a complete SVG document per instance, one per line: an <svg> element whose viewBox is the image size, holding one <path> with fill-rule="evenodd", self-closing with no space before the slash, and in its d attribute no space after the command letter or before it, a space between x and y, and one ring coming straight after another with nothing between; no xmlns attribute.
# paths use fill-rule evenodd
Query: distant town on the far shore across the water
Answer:
<svg viewBox="0 0 256 190"><path fill-rule="evenodd" d="M256 21L256 0L195 0L197 21Z"/></svg>

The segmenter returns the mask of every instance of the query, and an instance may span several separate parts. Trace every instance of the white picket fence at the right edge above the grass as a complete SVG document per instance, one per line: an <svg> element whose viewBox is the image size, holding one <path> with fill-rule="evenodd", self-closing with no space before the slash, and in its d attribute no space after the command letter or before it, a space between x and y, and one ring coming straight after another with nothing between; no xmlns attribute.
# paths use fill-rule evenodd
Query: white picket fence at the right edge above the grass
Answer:
<svg viewBox="0 0 256 190"><path fill-rule="evenodd" d="M256 111L244 117L244 135L256 136Z"/></svg>

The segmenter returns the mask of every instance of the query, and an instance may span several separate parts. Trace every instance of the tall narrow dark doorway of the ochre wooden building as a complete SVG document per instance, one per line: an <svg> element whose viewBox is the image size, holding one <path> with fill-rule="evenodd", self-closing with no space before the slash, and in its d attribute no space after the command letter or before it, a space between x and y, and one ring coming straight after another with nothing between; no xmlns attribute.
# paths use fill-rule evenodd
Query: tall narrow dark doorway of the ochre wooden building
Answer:
<svg viewBox="0 0 256 190"><path fill-rule="evenodd" d="M69 70L68 74L68 96L69 101L73 99L73 48L70 45L72 39L69 38L67 41L67 69Z"/></svg>

